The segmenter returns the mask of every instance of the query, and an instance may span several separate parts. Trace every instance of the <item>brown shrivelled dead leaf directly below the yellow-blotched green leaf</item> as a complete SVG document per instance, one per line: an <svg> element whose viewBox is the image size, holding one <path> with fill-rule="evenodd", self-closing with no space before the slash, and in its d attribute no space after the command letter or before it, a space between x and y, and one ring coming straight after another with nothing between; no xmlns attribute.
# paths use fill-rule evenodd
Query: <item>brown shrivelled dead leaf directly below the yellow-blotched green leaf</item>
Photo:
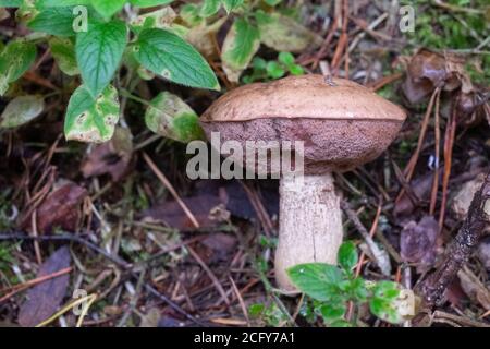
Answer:
<svg viewBox="0 0 490 349"><path fill-rule="evenodd" d="M81 170L85 178L110 174L120 181L130 172L133 159L133 136L128 129L115 128L108 143L97 145L85 158Z"/></svg>

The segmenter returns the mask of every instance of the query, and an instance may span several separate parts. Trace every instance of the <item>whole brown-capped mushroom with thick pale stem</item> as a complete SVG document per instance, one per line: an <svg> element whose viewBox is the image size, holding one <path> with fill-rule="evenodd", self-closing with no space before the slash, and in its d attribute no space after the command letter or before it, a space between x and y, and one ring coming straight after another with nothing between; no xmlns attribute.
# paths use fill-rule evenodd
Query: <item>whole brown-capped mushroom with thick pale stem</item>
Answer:
<svg viewBox="0 0 490 349"><path fill-rule="evenodd" d="M370 89L316 74L235 88L201 116L208 137L220 132L221 140L238 141L244 148L247 141L303 141L303 181L284 173L280 179L275 278L283 290L295 291L289 267L336 263L343 231L332 172L377 158L404 120L399 106ZM257 163L245 167L256 171L257 165L264 165Z"/></svg>

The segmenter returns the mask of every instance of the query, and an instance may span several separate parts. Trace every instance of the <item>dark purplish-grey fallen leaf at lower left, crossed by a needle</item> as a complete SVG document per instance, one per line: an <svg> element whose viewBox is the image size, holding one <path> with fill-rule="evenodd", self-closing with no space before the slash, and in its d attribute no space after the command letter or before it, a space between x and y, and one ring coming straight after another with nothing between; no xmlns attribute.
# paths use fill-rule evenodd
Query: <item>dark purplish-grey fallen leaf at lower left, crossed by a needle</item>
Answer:
<svg viewBox="0 0 490 349"><path fill-rule="evenodd" d="M62 246L41 265L37 277L68 268L70 262L70 250L68 246ZM27 292L27 300L19 310L19 324L33 327L54 314L66 294L69 280L69 275L64 274L34 286Z"/></svg>

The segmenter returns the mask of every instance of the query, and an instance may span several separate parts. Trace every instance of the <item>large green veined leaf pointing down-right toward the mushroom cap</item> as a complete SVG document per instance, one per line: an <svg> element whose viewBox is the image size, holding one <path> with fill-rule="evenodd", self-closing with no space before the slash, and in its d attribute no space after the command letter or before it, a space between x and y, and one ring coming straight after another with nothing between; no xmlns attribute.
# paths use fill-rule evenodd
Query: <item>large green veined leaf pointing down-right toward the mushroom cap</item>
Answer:
<svg viewBox="0 0 490 349"><path fill-rule="evenodd" d="M174 83L220 89L218 80L199 52L177 35L145 29L134 46L136 60L149 71Z"/></svg>

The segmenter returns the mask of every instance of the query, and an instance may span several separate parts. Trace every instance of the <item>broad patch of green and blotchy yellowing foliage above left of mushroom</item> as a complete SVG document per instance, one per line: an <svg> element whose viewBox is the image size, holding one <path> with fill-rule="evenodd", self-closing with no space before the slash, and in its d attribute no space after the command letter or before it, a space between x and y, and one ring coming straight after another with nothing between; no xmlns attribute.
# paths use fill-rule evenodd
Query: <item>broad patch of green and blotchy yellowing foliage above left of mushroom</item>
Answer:
<svg viewBox="0 0 490 349"><path fill-rule="evenodd" d="M53 93L72 93L64 119L66 140L111 140L124 115L123 100L130 98L147 107L145 121L152 132L189 142L203 137L196 112L170 93L154 100L133 95L140 80L219 91L208 60L219 58L222 64L217 67L230 82L238 82L262 44L280 51L278 60L257 58L252 77L244 82L301 74L291 52L321 43L296 21L294 8L282 14L281 0L172 2L0 0L0 8L15 8L16 21L33 32L0 44L0 96L12 97L0 116L0 129L20 127L42 112L47 96L20 95L14 86L35 62L38 47L49 47L69 76L66 87ZM228 20L231 26L217 49L216 34Z"/></svg>

